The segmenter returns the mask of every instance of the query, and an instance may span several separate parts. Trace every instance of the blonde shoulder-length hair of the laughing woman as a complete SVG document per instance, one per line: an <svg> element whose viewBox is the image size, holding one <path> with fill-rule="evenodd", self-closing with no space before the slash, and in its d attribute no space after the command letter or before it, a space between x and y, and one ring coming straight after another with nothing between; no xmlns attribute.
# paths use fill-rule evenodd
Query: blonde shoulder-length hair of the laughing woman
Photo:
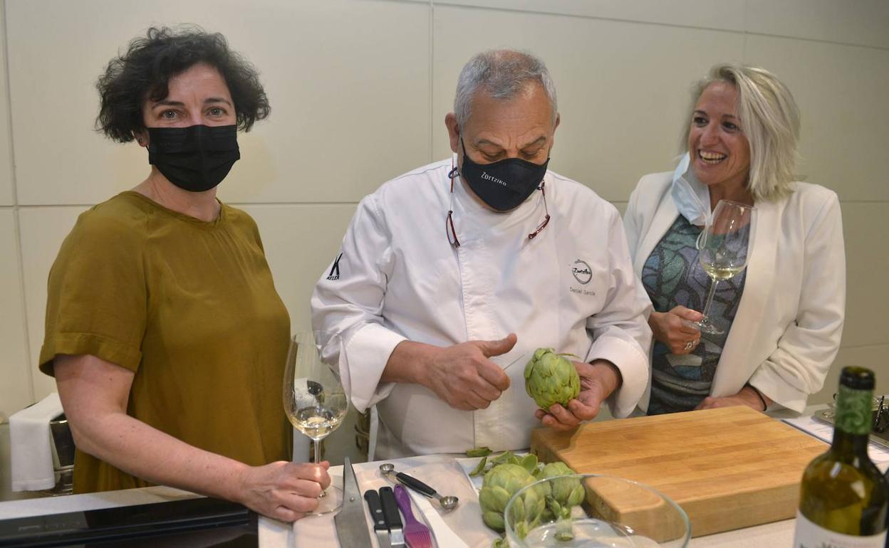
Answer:
<svg viewBox="0 0 889 548"><path fill-rule="evenodd" d="M715 82L731 83L738 92L741 131L750 144L747 187L754 200L776 201L792 192L797 179L799 108L789 89L765 68L723 63L710 68L693 86L692 108ZM693 116L685 123L685 145Z"/></svg>

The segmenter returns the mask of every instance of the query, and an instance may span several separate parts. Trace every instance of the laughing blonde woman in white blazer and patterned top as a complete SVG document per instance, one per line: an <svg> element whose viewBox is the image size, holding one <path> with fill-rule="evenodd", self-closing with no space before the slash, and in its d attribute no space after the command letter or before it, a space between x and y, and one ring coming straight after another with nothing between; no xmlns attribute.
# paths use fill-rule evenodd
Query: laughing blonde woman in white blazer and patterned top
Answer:
<svg viewBox="0 0 889 548"><path fill-rule="evenodd" d="M797 182L799 112L762 68L723 64L693 91L686 154L643 177L624 224L636 274L652 299L649 414L730 405L805 408L837 355L845 313L839 200ZM757 207L746 271L721 282L701 333L709 277L695 241L720 200Z"/></svg>

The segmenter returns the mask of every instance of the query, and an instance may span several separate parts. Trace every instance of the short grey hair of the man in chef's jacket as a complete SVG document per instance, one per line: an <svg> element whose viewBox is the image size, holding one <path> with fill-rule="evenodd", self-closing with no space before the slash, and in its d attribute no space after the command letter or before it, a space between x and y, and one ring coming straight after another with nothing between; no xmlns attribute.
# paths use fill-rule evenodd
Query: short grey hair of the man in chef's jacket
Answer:
<svg viewBox="0 0 889 548"><path fill-rule="evenodd" d="M453 112L460 127L472 115L472 99L477 91L485 91L493 99L512 99L525 91L528 83L540 83L546 91L552 120L556 122L556 84L543 61L528 52L489 50L477 53L460 71Z"/></svg>

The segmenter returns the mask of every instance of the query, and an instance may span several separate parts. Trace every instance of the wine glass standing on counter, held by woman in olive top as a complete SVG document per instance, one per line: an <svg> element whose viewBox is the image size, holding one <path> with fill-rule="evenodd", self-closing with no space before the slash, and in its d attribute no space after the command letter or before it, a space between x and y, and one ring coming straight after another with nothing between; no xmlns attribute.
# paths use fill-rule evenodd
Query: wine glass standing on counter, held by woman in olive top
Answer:
<svg viewBox="0 0 889 548"><path fill-rule="evenodd" d="M336 361L340 356L340 337L324 331L303 331L293 336L284 368L284 413L294 428L315 441L315 462L321 462L321 444L346 417L348 399L340 385ZM333 349L330 356L318 353L316 342ZM336 370L336 374L334 374ZM326 488L318 496L312 515L323 515L340 508L342 489Z"/></svg>

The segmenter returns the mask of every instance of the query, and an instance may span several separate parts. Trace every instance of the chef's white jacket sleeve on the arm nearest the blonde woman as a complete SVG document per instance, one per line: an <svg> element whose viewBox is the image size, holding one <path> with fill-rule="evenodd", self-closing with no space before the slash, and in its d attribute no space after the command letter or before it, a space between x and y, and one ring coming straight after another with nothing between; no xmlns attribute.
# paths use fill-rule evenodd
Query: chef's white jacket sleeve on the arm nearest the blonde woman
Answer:
<svg viewBox="0 0 889 548"><path fill-rule="evenodd" d="M608 398L608 406L613 417L627 417L636 409L651 375L647 349L652 342L648 327L652 303L633 273L627 237L616 210L606 243L603 260L610 264L611 283L602 309L587 320L593 338L587 361L611 361L621 371L621 387Z"/></svg>

